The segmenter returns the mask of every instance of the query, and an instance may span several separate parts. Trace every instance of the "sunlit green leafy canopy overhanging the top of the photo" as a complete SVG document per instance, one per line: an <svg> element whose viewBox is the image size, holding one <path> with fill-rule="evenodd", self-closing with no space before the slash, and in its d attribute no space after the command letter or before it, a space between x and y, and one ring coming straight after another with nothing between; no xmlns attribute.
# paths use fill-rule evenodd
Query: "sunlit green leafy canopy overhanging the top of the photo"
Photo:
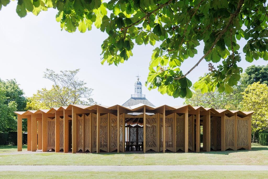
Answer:
<svg viewBox="0 0 268 179"><path fill-rule="evenodd" d="M0 7L10 0L1 0ZM170 96L192 96L192 82L186 77L202 60L222 62L210 68L194 87L202 93L230 93L237 85L242 68L241 55L252 62L268 60L268 13L266 1L260 0L18 0L20 17L32 12L38 15L48 8L57 9L56 20L62 30L91 30L94 24L107 34L103 41L102 63L118 65L132 56L134 45L156 45L149 64L146 85ZM239 44L240 39L247 40ZM201 52L191 62L192 68L181 70L181 64ZM243 46L241 46L243 45ZM241 46L241 47L240 47ZM243 48L243 53L239 50Z"/></svg>

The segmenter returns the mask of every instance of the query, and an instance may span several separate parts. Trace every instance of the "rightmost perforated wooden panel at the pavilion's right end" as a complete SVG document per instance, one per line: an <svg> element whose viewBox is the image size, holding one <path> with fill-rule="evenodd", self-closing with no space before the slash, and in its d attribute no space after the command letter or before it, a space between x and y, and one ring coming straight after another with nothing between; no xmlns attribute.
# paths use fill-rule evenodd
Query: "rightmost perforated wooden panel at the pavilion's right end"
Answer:
<svg viewBox="0 0 268 179"><path fill-rule="evenodd" d="M248 146L248 120L237 116L237 149Z"/></svg>

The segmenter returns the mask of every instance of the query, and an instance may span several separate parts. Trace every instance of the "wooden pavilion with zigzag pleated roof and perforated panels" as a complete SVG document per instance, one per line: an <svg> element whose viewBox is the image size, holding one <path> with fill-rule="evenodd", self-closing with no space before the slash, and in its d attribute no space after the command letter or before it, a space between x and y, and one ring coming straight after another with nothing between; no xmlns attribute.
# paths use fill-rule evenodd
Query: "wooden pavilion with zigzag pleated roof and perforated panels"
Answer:
<svg viewBox="0 0 268 179"><path fill-rule="evenodd" d="M70 104L15 113L18 115L18 151L22 151L24 119L27 119L28 151L99 153L136 148L143 152L165 153L251 149L253 112L191 105L107 107ZM200 147L200 126L203 126L203 148Z"/></svg>

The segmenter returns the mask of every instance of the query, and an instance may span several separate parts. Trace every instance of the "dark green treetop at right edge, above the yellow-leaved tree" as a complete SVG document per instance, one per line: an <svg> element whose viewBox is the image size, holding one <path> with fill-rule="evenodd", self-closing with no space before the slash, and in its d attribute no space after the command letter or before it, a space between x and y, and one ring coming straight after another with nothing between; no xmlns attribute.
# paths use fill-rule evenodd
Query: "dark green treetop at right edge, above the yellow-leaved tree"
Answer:
<svg viewBox="0 0 268 179"><path fill-rule="evenodd" d="M268 85L268 64L266 66L251 65L247 67L244 76L241 78L241 83L245 86L258 81Z"/></svg>

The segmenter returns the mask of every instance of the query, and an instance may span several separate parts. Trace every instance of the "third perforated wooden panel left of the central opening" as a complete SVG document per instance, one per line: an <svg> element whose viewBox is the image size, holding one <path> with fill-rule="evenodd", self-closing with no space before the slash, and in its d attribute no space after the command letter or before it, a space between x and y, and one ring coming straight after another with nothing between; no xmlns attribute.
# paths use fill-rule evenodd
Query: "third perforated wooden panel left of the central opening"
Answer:
<svg viewBox="0 0 268 179"><path fill-rule="evenodd" d="M100 116L100 149L108 152L108 114Z"/></svg>

